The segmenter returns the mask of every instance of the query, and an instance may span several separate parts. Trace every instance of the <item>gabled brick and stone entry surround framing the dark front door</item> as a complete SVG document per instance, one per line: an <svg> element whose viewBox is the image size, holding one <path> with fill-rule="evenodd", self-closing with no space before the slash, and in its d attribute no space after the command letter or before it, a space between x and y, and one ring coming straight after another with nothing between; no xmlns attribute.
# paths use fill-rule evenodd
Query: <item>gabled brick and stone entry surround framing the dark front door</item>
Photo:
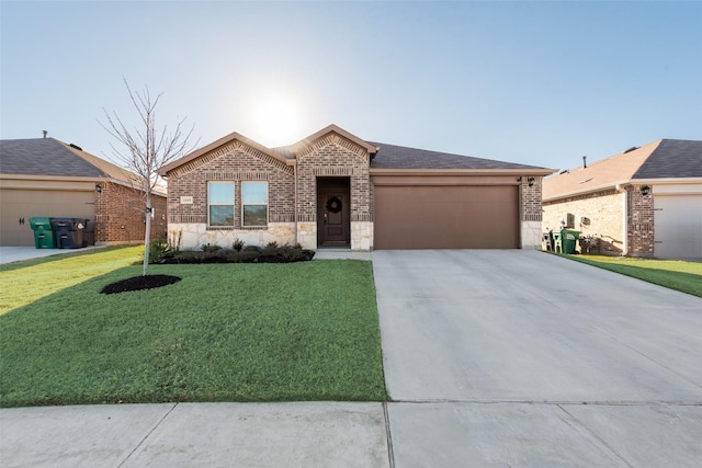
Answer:
<svg viewBox="0 0 702 468"><path fill-rule="evenodd" d="M317 178L349 178L351 249L373 248L373 207L367 151L329 134L297 155L297 230L306 249L317 248Z"/></svg>

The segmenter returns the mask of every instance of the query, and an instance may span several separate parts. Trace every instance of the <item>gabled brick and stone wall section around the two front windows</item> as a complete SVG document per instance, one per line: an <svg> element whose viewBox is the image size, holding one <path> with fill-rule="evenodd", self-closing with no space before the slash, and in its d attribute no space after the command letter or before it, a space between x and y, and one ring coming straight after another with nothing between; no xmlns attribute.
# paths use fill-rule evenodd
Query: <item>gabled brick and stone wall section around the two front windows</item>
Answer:
<svg viewBox="0 0 702 468"><path fill-rule="evenodd" d="M234 227L207 226L207 182L235 183ZM241 222L241 182L269 184L268 227L248 228ZM169 238L181 248L211 243L231 247L236 239L246 244L294 244L294 169L238 140L203 155L171 171L168 176Z"/></svg>

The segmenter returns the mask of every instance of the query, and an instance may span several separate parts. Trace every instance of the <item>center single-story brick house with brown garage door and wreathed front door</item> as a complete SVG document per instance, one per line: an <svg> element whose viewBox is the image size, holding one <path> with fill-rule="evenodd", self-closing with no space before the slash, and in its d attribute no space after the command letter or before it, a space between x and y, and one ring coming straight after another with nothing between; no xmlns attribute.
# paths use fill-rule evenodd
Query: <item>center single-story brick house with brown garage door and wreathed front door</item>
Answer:
<svg viewBox="0 0 702 468"><path fill-rule="evenodd" d="M237 133L165 167L182 247L533 249L553 170L365 141L329 125L267 148Z"/></svg>

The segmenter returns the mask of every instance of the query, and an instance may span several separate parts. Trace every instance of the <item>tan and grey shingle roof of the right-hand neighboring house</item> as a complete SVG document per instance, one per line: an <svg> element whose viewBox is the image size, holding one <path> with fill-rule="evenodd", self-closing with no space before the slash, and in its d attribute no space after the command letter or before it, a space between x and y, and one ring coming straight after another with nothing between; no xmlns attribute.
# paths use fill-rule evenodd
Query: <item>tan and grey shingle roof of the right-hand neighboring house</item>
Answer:
<svg viewBox="0 0 702 468"><path fill-rule="evenodd" d="M702 178L702 141L661 139L546 179L543 199L598 192L637 181L694 178Z"/></svg>

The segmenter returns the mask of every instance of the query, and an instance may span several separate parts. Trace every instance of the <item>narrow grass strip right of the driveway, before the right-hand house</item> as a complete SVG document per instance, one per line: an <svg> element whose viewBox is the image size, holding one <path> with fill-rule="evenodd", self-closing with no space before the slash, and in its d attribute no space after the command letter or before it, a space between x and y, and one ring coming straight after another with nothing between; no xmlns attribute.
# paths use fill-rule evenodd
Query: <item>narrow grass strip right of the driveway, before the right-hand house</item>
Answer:
<svg viewBox="0 0 702 468"><path fill-rule="evenodd" d="M702 263L604 255L564 255L570 260L633 276L702 297Z"/></svg>

